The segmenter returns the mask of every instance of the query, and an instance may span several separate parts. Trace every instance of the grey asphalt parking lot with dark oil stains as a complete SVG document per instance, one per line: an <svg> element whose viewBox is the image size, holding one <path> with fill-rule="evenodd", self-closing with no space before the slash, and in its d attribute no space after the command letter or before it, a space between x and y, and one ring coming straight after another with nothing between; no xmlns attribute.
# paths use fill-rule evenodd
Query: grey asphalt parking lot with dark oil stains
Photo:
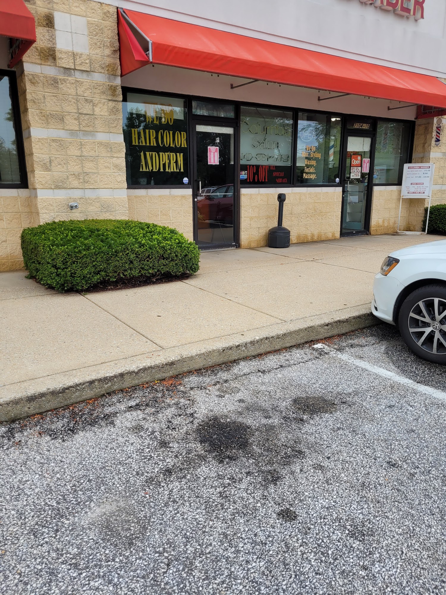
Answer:
<svg viewBox="0 0 446 595"><path fill-rule="evenodd" d="M445 399L380 325L1 424L0 593L445 593Z"/></svg>

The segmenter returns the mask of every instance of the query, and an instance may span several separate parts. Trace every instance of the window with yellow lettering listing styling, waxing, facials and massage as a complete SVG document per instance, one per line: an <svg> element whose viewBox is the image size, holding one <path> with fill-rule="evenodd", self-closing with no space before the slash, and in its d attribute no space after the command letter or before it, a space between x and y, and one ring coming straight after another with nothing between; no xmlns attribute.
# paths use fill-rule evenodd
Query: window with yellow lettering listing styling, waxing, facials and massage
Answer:
<svg viewBox="0 0 446 595"><path fill-rule="evenodd" d="M296 184L337 183L340 146L340 117L299 112Z"/></svg>

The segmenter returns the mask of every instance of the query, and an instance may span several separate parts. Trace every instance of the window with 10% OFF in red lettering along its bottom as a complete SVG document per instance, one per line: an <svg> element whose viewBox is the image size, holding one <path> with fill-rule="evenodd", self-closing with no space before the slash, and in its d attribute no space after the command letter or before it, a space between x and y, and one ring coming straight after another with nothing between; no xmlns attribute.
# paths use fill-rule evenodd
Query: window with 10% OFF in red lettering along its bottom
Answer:
<svg viewBox="0 0 446 595"><path fill-rule="evenodd" d="M240 184L291 184L293 112L242 106Z"/></svg>

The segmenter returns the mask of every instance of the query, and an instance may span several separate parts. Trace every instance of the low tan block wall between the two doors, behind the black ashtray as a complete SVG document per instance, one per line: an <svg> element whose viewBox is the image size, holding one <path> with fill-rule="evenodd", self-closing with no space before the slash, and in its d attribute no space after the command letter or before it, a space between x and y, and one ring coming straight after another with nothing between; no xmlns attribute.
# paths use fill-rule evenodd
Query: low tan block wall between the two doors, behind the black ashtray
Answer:
<svg viewBox="0 0 446 595"><path fill-rule="evenodd" d="M337 188L287 188L284 226L291 243L332 240L340 235L342 193ZM268 230L277 225L277 192L272 189L241 189L240 246L266 246Z"/></svg>

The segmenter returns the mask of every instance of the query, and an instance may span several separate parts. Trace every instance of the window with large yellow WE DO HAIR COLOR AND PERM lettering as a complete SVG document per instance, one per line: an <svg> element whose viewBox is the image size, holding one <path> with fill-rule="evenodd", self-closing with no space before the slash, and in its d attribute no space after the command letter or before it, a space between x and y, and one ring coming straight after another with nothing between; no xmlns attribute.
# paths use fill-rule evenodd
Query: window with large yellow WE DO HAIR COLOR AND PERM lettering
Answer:
<svg viewBox="0 0 446 595"><path fill-rule="evenodd" d="M127 93L123 133L128 186L190 183L184 99Z"/></svg>

